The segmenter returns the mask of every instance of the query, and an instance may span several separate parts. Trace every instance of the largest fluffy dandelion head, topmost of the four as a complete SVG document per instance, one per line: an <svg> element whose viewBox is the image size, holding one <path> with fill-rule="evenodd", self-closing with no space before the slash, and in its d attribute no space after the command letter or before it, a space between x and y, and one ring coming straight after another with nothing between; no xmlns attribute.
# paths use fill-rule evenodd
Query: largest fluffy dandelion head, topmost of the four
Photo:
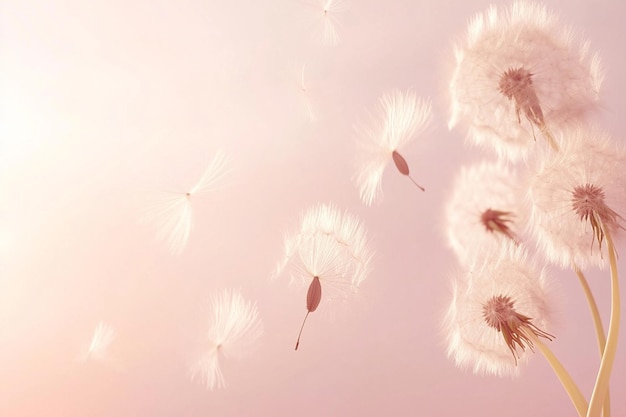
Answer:
<svg viewBox="0 0 626 417"><path fill-rule="evenodd" d="M455 45L448 126L465 122L474 143L511 160L537 133L558 148L553 132L595 107L603 80L598 55L575 47L572 33L530 2L476 15Z"/></svg>

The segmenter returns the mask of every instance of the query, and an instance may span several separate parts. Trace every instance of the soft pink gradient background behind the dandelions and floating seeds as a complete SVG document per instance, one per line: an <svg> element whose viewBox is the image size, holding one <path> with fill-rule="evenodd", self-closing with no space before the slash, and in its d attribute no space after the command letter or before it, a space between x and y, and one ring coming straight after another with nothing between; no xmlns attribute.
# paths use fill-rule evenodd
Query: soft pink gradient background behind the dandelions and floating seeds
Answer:
<svg viewBox="0 0 626 417"><path fill-rule="evenodd" d="M445 355L455 261L442 208L460 164L482 157L446 127L451 41L490 2L344 3L335 48L320 42L321 9L297 0L1 3L0 416L575 415L540 355L518 379ZM546 4L601 52L597 122L623 137L624 3ZM353 126L391 88L433 99L432 128L405 152L427 192L389 170L367 208ZM194 202L189 245L170 256L141 210L193 184L220 148L233 173ZM311 315L294 352L306 288L269 276L283 232L317 202L359 215L376 256L360 297L334 319ZM592 322L573 273L553 276L550 346L588 395ZM608 273L588 277L606 324ZM187 366L225 287L258 302L265 335L225 362L227 389L207 392ZM100 320L117 329L111 361L76 361ZM614 416L626 415L624 329Z"/></svg>

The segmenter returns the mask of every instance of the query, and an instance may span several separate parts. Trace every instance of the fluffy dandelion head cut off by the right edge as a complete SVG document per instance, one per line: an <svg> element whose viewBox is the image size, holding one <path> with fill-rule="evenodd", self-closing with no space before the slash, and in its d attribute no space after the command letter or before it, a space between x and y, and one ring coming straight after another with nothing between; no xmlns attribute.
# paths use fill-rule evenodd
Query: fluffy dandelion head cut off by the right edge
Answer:
<svg viewBox="0 0 626 417"><path fill-rule="evenodd" d="M530 171L530 230L546 259L561 267L603 266L605 233L626 221L626 150L597 129L573 126L563 147Z"/></svg>

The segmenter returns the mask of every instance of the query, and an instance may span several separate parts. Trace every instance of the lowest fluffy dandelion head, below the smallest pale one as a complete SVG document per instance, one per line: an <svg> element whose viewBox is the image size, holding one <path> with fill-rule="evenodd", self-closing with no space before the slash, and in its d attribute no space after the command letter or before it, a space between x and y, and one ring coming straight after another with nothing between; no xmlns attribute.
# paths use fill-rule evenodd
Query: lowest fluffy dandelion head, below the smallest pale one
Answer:
<svg viewBox="0 0 626 417"><path fill-rule="evenodd" d="M549 313L544 272L520 246L507 243L453 282L445 318L448 356L476 374L518 375L533 339L552 339L544 330Z"/></svg>

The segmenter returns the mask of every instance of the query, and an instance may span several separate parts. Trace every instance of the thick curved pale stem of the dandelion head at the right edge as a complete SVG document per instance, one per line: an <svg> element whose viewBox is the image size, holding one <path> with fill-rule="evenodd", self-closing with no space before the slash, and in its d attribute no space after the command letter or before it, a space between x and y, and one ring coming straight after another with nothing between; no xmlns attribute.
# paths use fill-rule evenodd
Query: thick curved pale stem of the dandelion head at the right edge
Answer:
<svg viewBox="0 0 626 417"><path fill-rule="evenodd" d="M609 331L602 360L600 361L600 368L598 369L598 376L596 377L596 384L589 400L587 417L600 416L602 404L609 390L609 380L613 370L613 362L617 351L617 338L619 336L620 295L615 247L613 246L613 237L610 231L604 224L602 224L602 228L604 229L606 247L609 253L609 264L611 265L611 318L609 319Z"/></svg>

